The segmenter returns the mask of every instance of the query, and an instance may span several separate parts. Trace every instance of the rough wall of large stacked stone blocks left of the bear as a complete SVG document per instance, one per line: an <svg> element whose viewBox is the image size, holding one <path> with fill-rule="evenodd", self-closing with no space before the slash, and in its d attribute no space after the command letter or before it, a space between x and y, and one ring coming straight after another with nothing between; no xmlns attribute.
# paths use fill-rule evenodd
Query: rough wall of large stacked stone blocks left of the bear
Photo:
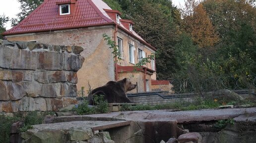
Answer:
<svg viewBox="0 0 256 143"><path fill-rule="evenodd" d="M79 46L0 41L0 112L57 111L77 103Z"/></svg>

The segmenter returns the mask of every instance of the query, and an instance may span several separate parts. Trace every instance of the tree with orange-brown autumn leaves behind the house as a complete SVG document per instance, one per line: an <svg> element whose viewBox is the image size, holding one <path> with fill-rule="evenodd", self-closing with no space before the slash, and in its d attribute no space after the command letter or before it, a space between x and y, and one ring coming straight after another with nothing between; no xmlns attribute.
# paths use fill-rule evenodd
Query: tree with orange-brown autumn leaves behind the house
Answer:
<svg viewBox="0 0 256 143"><path fill-rule="evenodd" d="M199 48L212 48L218 41L218 36L208 18L201 3L196 4L195 0L185 2L184 30L191 34L192 39Z"/></svg>

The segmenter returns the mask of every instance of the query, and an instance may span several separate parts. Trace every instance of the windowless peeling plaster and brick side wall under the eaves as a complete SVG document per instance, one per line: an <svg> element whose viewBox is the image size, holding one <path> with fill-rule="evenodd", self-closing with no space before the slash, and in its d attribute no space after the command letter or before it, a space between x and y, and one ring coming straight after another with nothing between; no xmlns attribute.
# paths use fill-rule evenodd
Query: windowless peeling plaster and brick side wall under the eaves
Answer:
<svg viewBox="0 0 256 143"><path fill-rule="evenodd" d="M39 32L6 36L11 41L37 41L54 45L76 45L83 47L80 53L85 58L83 66L77 72L77 90L84 87L85 94L91 88L97 88L110 80L115 80L112 49L109 49L103 34L112 36L114 26L97 26L52 32ZM78 95L79 96L79 95Z"/></svg>

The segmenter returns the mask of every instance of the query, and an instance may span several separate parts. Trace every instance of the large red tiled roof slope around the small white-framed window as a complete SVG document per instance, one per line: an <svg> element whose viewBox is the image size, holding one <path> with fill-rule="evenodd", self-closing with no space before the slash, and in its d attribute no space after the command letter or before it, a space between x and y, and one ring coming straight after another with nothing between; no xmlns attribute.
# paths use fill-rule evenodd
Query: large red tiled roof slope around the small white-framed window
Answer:
<svg viewBox="0 0 256 143"><path fill-rule="evenodd" d="M45 0L29 16L3 35L42 32L50 30L89 27L114 23L106 17L92 0L77 0L71 15L59 16L59 5L56 2L73 0ZM72 12L72 11L71 11Z"/></svg>

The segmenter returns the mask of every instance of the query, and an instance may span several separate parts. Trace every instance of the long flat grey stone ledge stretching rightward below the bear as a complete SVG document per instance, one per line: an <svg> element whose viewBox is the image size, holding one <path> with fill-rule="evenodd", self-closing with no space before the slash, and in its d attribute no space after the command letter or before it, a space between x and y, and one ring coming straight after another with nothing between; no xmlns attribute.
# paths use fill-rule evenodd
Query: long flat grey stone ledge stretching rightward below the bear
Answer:
<svg viewBox="0 0 256 143"><path fill-rule="evenodd" d="M81 120L127 120L127 121L177 121L178 123L190 121L211 121L230 119L246 113L256 113L256 107L251 108L225 108L225 109L202 109L190 111L172 110L144 110L123 111L107 114L77 115L55 117L54 122L69 122Z"/></svg>

